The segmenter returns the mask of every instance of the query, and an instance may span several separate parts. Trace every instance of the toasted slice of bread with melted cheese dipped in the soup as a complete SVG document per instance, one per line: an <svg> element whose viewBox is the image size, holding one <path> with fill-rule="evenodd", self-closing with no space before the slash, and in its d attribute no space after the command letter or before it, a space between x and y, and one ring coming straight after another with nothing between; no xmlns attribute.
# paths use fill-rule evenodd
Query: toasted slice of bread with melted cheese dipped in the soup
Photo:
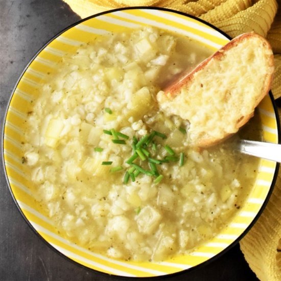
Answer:
<svg viewBox="0 0 281 281"><path fill-rule="evenodd" d="M237 36L157 93L168 115L188 120L190 145L207 147L236 133L253 115L272 82L273 54L262 36Z"/></svg>

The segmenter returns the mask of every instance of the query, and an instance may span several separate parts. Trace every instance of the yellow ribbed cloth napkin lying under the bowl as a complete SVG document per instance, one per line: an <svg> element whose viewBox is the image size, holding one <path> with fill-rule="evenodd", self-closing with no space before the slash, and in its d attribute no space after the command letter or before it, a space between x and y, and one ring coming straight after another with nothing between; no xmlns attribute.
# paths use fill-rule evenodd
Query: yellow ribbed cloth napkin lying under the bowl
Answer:
<svg viewBox="0 0 281 281"><path fill-rule="evenodd" d="M272 92L281 97L281 0L64 0L82 18L110 9L157 6L185 12L210 22L235 37L255 31L274 52ZM279 4L279 9L278 9ZM281 109L279 109L281 116ZM281 280L281 173L270 200L255 225L241 240L246 261L262 281Z"/></svg>

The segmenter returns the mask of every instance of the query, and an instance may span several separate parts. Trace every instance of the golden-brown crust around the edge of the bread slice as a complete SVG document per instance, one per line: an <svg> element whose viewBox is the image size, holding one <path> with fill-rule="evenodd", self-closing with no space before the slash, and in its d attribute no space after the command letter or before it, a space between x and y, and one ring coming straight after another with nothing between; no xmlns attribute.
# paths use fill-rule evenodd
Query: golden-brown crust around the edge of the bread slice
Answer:
<svg viewBox="0 0 281 281"><path fill-rule="evenodd" d="M196 68L193 69L193 71L189 73L185 73L175 82L173 82L173 84L169 85L166 89L164 89L165 95L168 98L168 100L173 100L178 95L182 96L183 95L182 89L184 89L185 92L188 92L188 89L192 86L193 83L198 83L198 81L196 81L197 74L206 71L210 63L214 63L214 61L217 61L219 65L220 62L223 62L225 55L229 52L229 50L231 50L235 46L238 46L239 44L248 43L249 48L253 48L251 46L251 43L254 39L255 41L259 42L259 50L252 50L251 52L263 52L266 61L266 65L264 65L264 67L266 67L266 74L264 75L264 83L262 88L259 90L258 93L257 92L254 93L255 95L254 101L251 104L247 105L248 113L245 114L245 116L241 116L239 114L237 115L236 120L233 120L233 122L236 122L236 124L235 124L235 129L232 132L222 131L222 134L219 138L212 137L208 135L207 132L205 134L202 132L202 137L199 137L198 139L195 140L191 140L191 145L199 146L199 147L207 147L217 144L222 139L238 131L240 127L242 127L244 124L246 124L249 121L249 119L253 116L255 107L259 105L261 100L267 95L268 91L270 90L270 86L273 79L272 74L274 68L273 66L274 60L273 60L273 53L271 50L271 46L265 38L263 38L262 36L256 33L250 32L250 33L241 34L236 38L232 39L231 41L229 41L226 45L224 45L220 50L215 52L212 56L202 61ZM239 56L240 54L237 55ZM231 67L231 65L229 65L229 67ZM249 65L249 67L255 67L255 65ZM206 75L208 75L207 71L206 71ZM228 71L227 69L224 69L224 76L225 76L224 79L228 79L227 75L228 75ZM245 83L247 83L247 81L245 81ZM214 89L214 91L217 90ZM243 89L240 89L240 92L243 92ZM177 101L179 103L184 103L184 98L186 99L186 97L183 97L183 99L181 100L178 99ZM186 108L186 110L188 110L188 108Z"/></svg>

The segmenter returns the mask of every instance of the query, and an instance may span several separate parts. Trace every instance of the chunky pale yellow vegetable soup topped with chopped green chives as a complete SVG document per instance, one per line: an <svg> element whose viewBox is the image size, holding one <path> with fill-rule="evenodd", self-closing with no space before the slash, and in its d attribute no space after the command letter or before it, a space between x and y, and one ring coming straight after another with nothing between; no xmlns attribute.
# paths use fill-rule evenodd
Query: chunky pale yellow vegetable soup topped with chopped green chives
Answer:
<svg viewBox="0 0 281 281"><path fill-rule="evenodd" d="M190 147L188 121L156 101L210 53L146 27L82 45L45 79L27 109L22 161L65 238L114 259L161 261L214 237L238 212L259 160L234 152L231 139ZM251 123L258 138L260 122Z"/></svg>

